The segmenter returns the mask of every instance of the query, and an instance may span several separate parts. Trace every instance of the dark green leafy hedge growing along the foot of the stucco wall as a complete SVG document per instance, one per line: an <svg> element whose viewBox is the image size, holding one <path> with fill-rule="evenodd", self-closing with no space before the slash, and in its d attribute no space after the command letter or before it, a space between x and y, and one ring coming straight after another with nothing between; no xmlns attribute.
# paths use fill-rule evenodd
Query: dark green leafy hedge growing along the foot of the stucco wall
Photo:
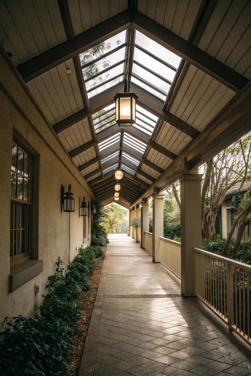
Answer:
<svg viewBox="0 0 251 376"><path fill-rule="evenodd" d="M0 332L0 374L65 376L81 311L76 300L90 289L89 275L103 255L99 246L79 247L67 267L58 257L56 271L48 277L48 294L40 306L41 315L5 318Z"/></svg>

